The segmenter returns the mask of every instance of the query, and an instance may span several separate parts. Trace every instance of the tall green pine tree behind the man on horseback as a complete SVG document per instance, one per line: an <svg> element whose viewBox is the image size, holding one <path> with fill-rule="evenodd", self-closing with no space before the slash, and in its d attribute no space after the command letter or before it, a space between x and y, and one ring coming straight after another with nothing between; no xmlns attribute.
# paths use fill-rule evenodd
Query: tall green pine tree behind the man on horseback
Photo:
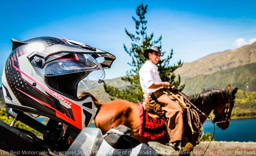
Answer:
<svg viewBox="0 0 256 156"><path fill-rule="evenodd" d="M130 82L130 85L123 90L120 90L116 87L107 85L104 82L104 89L110 95L111 100L115 98L124 99L131 102L141 102L143 97L143 91L139 83L139 69L147 60L143 56L144 50L148 49L152 45L158 45L161 48L161 40L162 36L160 36L157 40L153 40L154 34L147 34L147 20L145 20L145 14L147 12L148 5L143 5L141 3L136 9L136 15L138 19L132 16L132 19L136 25L136 34L132 34L128 32L125 28L126 35L130 37L132 40L131 48L128 49L125 44L123 44L123 48L127 54L132 57L132 62L128 63L132 69L130 71L126 71L126 76L121 77L121 79L125 82ZM179 60L177 64L170 65L169 60L172 58L173 49L171 49L170 54L167 58L159 60L157 66L159 76L161 80L164 82L170 82L170 84L175 85L176 88L182 90L185 87L185 84L180 85L180 75L178 75L178 79L175 80L175 74L173 73L178 67L183 65L183 62Z"/></svg>

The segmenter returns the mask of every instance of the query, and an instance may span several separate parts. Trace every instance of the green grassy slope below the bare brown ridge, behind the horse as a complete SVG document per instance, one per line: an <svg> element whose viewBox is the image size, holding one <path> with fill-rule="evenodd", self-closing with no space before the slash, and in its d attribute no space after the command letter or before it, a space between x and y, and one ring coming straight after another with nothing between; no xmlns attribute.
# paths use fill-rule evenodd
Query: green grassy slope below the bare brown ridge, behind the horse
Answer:
<svg viewBox="0 0 256 156"><path fill-rule="evenodd" d="M199 75L192 78L182 78L186 83L184 93L190 95L212 88L238 87L243 91L256 91L256 63L217 71L209 75Z"/></svg>

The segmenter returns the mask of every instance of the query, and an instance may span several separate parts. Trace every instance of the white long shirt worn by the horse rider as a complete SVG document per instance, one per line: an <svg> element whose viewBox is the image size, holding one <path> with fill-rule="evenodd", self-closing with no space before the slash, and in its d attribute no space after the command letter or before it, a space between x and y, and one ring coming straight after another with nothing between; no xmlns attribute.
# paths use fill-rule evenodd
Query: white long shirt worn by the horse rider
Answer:
<svg viewBox="0 0 256 156"><path fill-rule="evenodd" d="M154 82L162 82L158 74L158 67L150 61L146 61L140 68L139 82L144 93L153 93L161 88L164 88L163 86L158 88L148 88Z"/></svg>

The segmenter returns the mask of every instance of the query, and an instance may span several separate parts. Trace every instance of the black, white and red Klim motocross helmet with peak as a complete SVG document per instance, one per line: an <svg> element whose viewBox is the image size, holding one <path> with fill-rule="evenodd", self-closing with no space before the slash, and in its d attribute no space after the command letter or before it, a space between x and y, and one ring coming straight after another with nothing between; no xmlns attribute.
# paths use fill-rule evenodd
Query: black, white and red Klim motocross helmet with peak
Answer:
<svg viewBox="0 0 256 156"><path fill-rule="evenodd" d="M115 56L83 43L55 37L11 39L12 52L2 75L7 106L62 122L76 131L95 116L90 95L81 91L100 83ZM99 63L96 58L104 57Z"/></svg>

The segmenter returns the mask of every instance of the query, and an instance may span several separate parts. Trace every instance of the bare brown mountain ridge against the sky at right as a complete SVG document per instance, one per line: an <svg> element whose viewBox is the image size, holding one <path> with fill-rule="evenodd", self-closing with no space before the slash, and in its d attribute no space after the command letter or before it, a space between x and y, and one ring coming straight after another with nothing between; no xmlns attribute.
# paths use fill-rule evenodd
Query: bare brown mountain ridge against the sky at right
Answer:
<svg viewBox="0 0 256 156"><path fill-rule="evenodd" d="M256 42L238 49L212 53L193 62L184 63L174 73L180 74L183 79L208 75L254 62L256 62Z"/></svg>

